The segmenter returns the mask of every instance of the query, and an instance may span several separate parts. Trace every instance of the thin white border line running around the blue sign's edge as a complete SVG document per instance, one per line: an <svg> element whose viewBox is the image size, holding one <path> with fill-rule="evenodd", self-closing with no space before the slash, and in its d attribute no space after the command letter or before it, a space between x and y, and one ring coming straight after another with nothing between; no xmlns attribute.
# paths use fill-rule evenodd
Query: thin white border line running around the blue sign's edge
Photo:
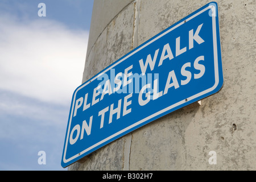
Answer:
<svg viewBox="0 0 256 182"><path fill-rule="evenodd" d="M212 9L213 12L216 12L216 7L214 5L211 5L209 4L209 6L205 7L205 9L199 11L198 13L196 13L195 15L192 15L190 16L189 18L185 19L185 22L188 22L189 20L195 18L196 16L200 15L201 13L204 13L204 11L207 11L208 9ZM88 80L84 85L81 85L80 88L77 88L75 94L74 94L74 97L73 98L76 98L76 93L84 88L84 86L88 85L90 82L92 82L93 80L97 79L98 77L100 77L102 74L104 74L105 72L109 71L110 69L112 69L113 67L115 67L115 65L119 64L119 63L122 63L122 61L126 60L128 57L134 55L134 53L137 53L138 51L140 51L141 49L143 49L144 47L147 47L149 44L151 44L152 42L155 42L155 40L158 40L159 38L161 38L162 36L168 34L169 32L171 32L172 30L174 30L175 28L181 26L182 24L184 24L184 20L182 22L180 22L179 24L176 24L176 26L170 28L170 30L164 32L163 34L157 36L155 39L152 39L150 42L144 44L142 47L138 48L137 50L135 50L134 52L131 52L129 55L123 57L123 59L119 60L117 63L111 65L109 68L105 69L105 71L101 72L98 76L96 77L93 77L91 80ZM217 53L217 30L216 30L216 16L212 16L212 27L213 27L213 57L214 57L214 76L215 76L215 84L212 86L212 88L209 88L207 90L204 90L203 92L200 92L200 93L197 93L195 94L194 96L191 96L189 98L187 98L187 101L189 100L193 100L197 97L200 97L204 94L207 94L209 92L211 92L212 90L214 90L217 85L218 85L218 82L219 82L219 75L218 75L218 53ZM99 146L100 144L116 137L117 135L119 134L122 134L124 133L125 131L127 130L130 130L132 129L133 127L137 126L137 125L140 125L141 123L145 122L145 121L148 121L148 119L151 119L151 118L154 118L156 117L157 115L159 114L162 114L174 107L177 107L181 104L184 104L185 102L187 102L185 100L182 100L180 102L177 102L176 104L173 104L171 106L168 106L166 107L165 109L162 109L144 119L142 119L141 121L138 121L136 123L134 123L133 125L130 125L128 127L126 127L125 129L121 130L121 131L118 131L117 133L109 136L108 138L105 138L104 140L101 140L100 142L94 144L93 146L90 146L89 148L86 148L84 151L81 151L79 152L79 154L76 154L74 156L72 156L71 158L69 159L65 159L65 156L66 156L66 152L67 152L67 146L68 146L68 139L69 139L69 132L70 132L70 128L71 128L71 121L72 121L72 117L70 117L70 120L69 120L69 126L68 126L68 132L67 132L67 139L65 141L65 150L64 150L64 156L63 156L63 162L64 163L68 163L69 161L79 157L80 155L84 154L85 152L89 151L89 150L92 150L93 148ZM75 106L75 99L73 100L73 104L72 104L72 110L71 110L71 116L73 115L73 109L74 109L74 106Z"/></svg>

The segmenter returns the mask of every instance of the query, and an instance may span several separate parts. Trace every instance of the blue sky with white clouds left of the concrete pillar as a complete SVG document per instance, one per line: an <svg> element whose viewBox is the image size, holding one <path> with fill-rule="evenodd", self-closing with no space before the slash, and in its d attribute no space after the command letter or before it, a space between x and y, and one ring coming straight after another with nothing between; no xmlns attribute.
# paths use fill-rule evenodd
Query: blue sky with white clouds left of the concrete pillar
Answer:
<svg viewBox="0 0 256 182"><path fill-rule="evenodd" d="M61 155L92 8L93 0L0 0L0 171L67 170Z"/></svg>

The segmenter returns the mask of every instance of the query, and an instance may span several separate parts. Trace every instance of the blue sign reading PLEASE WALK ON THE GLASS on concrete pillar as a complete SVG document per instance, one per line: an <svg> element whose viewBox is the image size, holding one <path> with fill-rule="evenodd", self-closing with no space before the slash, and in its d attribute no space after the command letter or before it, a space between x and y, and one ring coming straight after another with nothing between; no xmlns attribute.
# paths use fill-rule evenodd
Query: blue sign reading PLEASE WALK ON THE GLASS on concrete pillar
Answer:
<svg viewBox="0 0 256 182"><path fill-rule="evenodd" d="M160 32L73 93L61 166L223 84L217 3Z"/></svg>

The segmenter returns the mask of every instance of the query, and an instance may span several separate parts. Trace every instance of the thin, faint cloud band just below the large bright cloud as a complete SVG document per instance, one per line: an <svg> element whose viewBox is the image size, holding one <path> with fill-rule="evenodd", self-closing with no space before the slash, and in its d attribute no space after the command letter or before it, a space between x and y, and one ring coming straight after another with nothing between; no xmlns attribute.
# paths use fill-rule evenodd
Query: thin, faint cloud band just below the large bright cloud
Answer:
<svg viewBox="0 0 256 182"><path fill-rule="evenodd" d="M61 106L40 102L33 98L19 96L11 92L0 90L0 125L10 118L24 118L40 125L50 127L63 127L68 121L69 105ZM6 118L7 119L6 119ZM18 120L19 120L18 119ZM15 119L14 119L15 122ZM0 138L5 132L5 127L0 127Z"/></svg>

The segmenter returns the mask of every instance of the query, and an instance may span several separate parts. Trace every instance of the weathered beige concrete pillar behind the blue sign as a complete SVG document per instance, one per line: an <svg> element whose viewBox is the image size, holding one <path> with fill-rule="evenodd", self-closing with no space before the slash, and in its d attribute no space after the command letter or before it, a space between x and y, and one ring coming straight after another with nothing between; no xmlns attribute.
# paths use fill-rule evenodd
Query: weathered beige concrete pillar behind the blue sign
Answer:
<svg viewBox="0 0 256 182"><path fill-rule="evenodd" d="M104 1L106 7L111 2ZM95 41L88 47L83 82L208 2L115 1L116 14L109 15L100 13L96 1L92 20L102 21L92 21L92 27L105 27L97 34L90 30ZM217 3L221 91L199 107L177 110L115 140L69 170L256 170L255 1ZM102 16L113 18L104 22ZM217 164L209 164L209 151L216 151Z"/></svg>

